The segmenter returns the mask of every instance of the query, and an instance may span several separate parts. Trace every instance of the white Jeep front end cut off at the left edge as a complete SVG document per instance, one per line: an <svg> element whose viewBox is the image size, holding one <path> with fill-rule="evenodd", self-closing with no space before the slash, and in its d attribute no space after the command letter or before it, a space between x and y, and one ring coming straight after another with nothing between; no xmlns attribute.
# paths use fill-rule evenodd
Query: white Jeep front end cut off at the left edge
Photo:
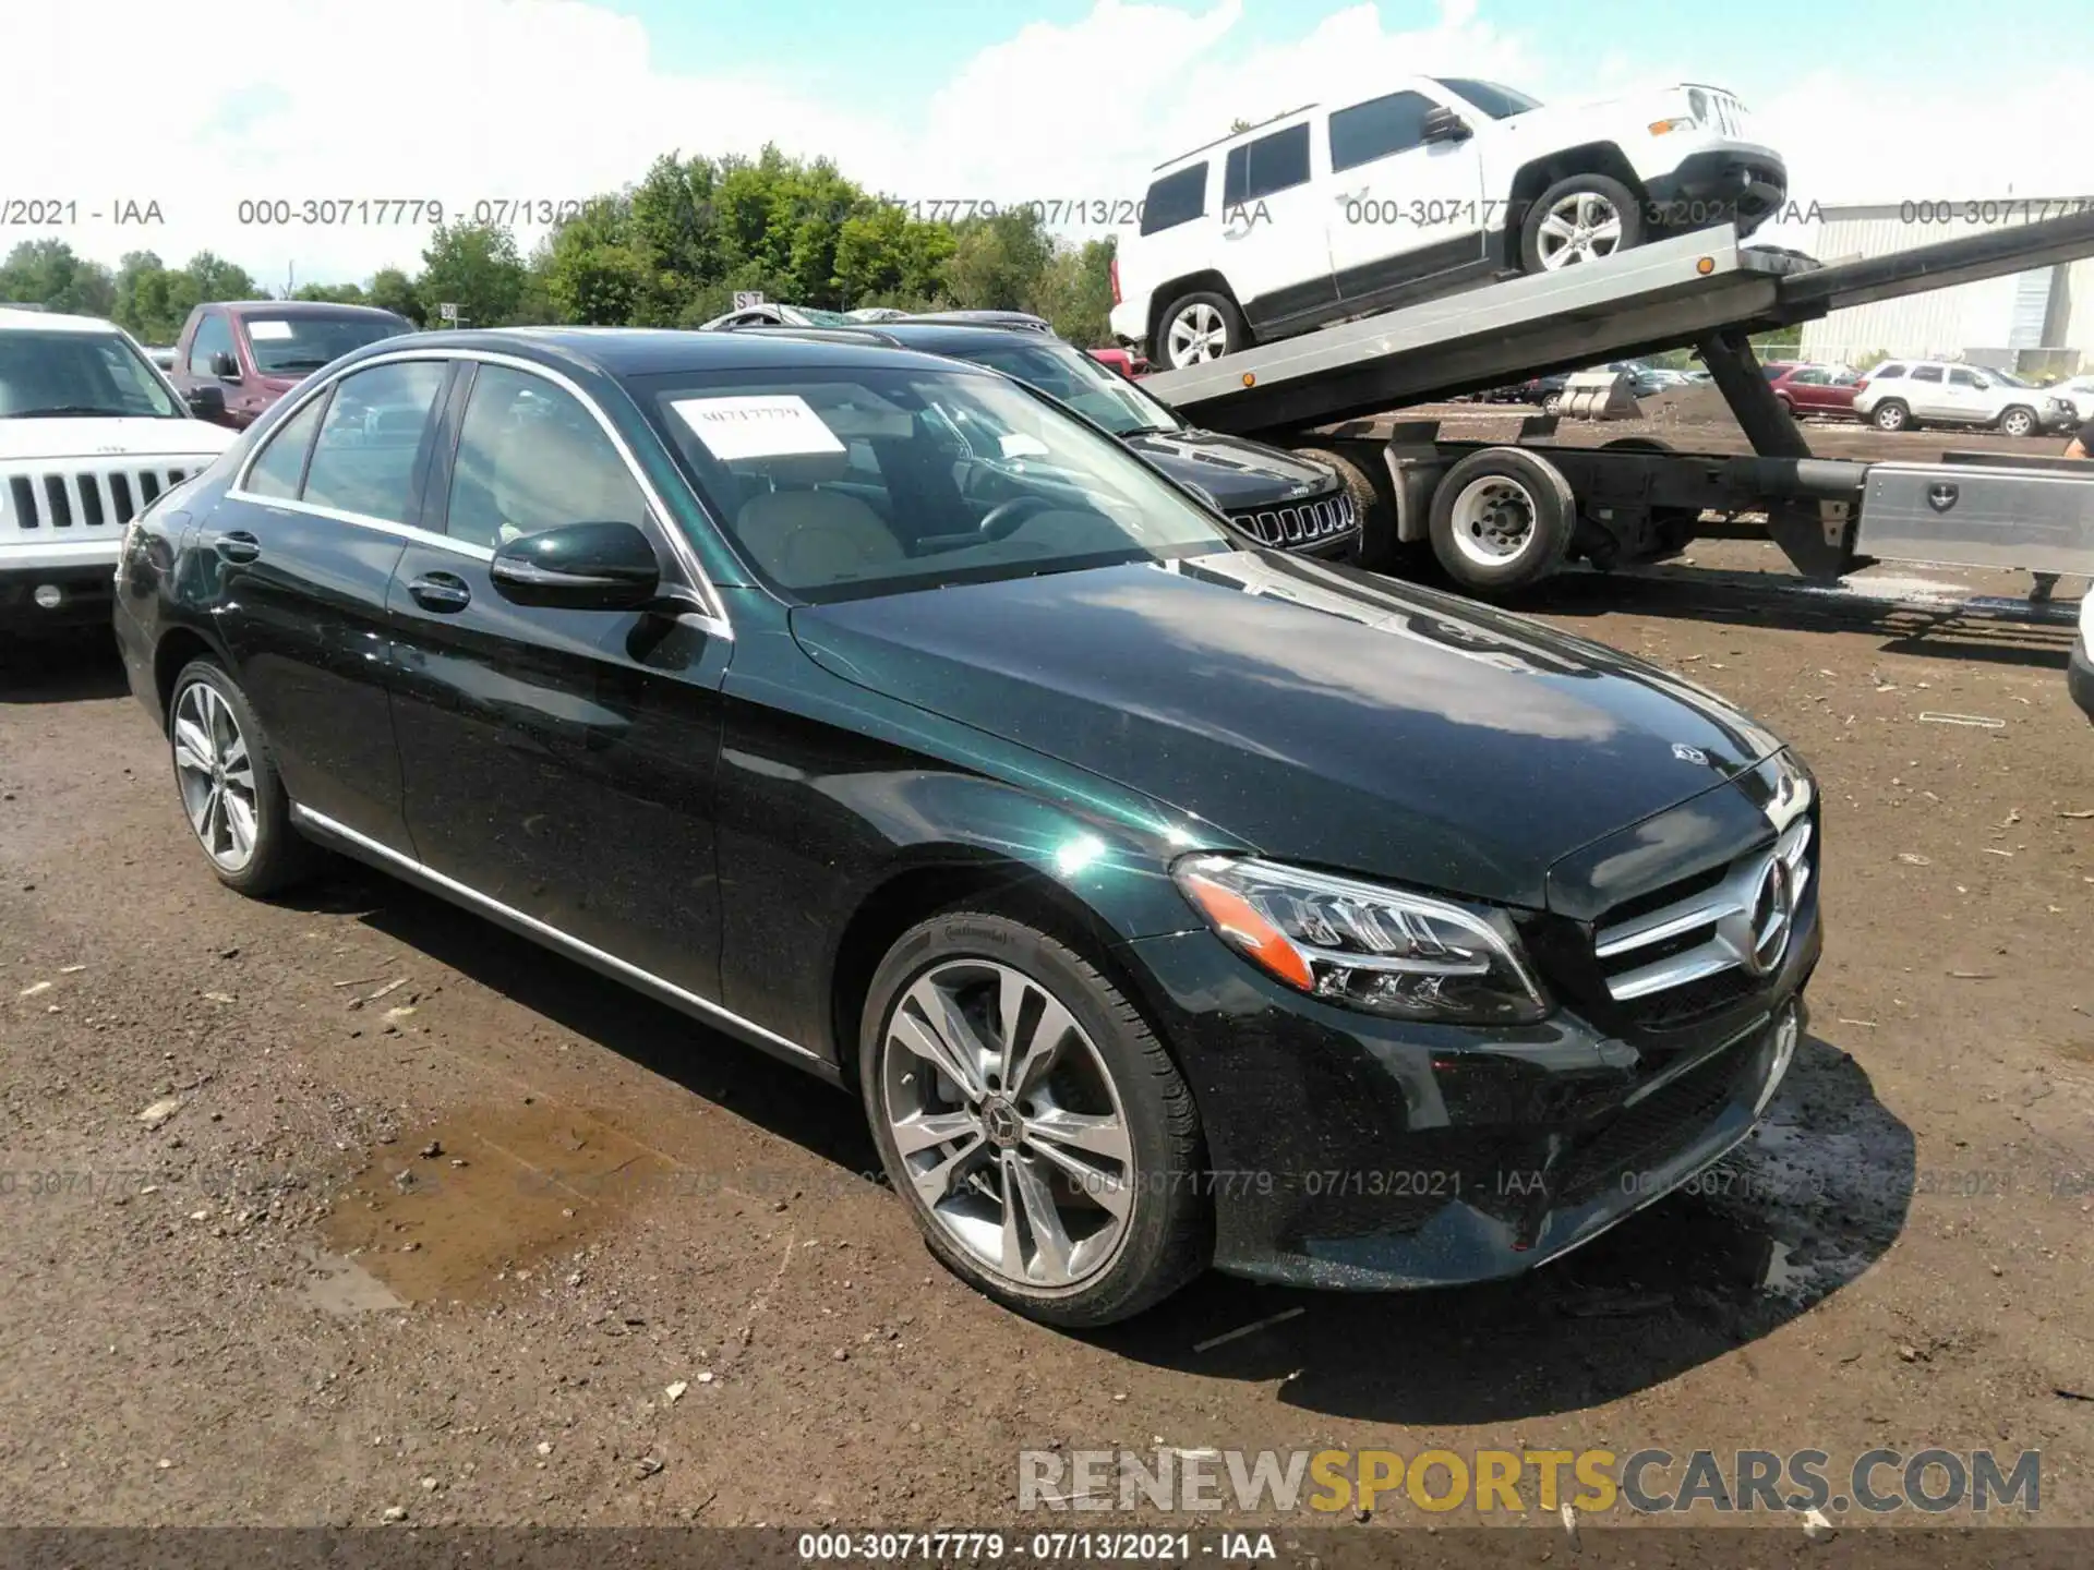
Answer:
<svg viewBox="0 0 2094 1570"><path fill-rule="evenodd" d="M107 622L124 525L237 440L115 322L0 310L0 632Z"/></svg>

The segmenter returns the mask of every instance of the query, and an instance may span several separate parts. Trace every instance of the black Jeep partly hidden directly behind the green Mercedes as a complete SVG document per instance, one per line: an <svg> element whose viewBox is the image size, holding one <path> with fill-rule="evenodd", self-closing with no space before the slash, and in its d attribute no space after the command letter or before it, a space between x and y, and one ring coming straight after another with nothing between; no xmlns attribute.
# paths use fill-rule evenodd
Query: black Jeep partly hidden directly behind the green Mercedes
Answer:
<svg viewBox="0 0 2094 1570"><path fill-rule="evenodd" d="M980 312L999 318L1016 312ZM1357 561L1365 530L1363 500L1338 469L1305 452L1202 431L1118 371L1053 335L1041 322L913 316L848 329L779 329L836 341L890 343L919 354L944 354L1001 371L1101 425L1156 469L1194 488L1258 544L1326 561ZM1039 318L1030 318L1039 320ZM750 329L743 329L750 331ZM768 331L756 327L754 331ZM972 433L961 427L961 435Z"/></svg>

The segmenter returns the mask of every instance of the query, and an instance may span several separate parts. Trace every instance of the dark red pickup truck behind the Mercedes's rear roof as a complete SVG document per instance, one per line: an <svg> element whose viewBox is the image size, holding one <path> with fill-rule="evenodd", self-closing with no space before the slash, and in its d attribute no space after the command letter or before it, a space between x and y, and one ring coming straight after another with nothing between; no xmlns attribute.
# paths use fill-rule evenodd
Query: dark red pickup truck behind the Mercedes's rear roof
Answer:
<svg viewBox="0 0 2094 1570"><path fill-rule="evenodd" d="M371 306L218 299L188 312L168 375L184 396L197 387L222 389L226 412L220 423L241 431L331 360L413 331L404 316Z"/></svg>

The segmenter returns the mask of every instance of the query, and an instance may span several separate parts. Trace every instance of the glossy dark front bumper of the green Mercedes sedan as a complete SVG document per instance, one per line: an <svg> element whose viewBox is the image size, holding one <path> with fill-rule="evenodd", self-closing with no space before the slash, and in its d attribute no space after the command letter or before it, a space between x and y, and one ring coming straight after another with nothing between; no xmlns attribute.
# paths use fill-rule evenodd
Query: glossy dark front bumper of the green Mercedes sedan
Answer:
<svg viewBox="0 0 2094 1570"><path fill-rule="evenodd" d="M1656 1051L1570 1009L1472 1030L1330 1007L1206 932L1133 944L1206 1126L1215 1266L1365 1289L1520 1275L1721 1158L1788 1066L1820 948L1811 898L1746 1009Z"/></svg>

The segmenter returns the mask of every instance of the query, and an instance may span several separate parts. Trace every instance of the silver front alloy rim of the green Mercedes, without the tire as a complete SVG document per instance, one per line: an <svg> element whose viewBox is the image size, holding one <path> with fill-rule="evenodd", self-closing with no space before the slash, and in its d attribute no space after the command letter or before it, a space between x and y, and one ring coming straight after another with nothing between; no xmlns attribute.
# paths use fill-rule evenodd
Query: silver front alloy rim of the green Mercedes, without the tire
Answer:
<svg viewBox="0 0 2094 1570"><path fill-rule="evenodd" d="M879 1109L938 1229L1018 1287L1095 1277L1127 1237L1135 1147L1076 1015L988 959L923 971L886 1019Z"/></svg>

